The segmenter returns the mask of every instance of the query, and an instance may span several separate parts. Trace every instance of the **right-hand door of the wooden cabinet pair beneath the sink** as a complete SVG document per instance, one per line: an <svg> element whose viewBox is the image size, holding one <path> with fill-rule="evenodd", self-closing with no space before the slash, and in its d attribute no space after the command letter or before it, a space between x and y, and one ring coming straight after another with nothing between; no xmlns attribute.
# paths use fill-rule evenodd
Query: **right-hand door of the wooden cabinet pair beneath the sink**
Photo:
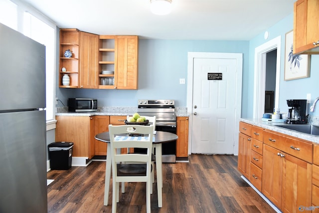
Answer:
<svg viewBox="0 0 319 213"><path fill-rule="evenodd" d="M288 154L284 159L282 211L296 213L311 206L312 165Z"/></svg>

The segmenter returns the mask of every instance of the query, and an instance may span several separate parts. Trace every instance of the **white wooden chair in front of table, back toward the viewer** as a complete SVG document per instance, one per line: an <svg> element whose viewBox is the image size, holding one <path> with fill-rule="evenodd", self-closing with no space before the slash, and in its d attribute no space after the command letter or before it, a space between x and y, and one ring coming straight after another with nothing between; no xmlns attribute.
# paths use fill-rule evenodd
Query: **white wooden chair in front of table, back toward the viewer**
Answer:
<svg viewBox="0 0 319 213"><path fill-rule="evenodd" d="M132 131L131 128L134 130ZM113 177L112 213L116 213L119 202L119 183L123 182L146 182L146 206L147 213L151 213L151 170L152 170L152 145L154 127L141 125L109 125ZM117 138L118 134L146 134L145 140L133 137L130 140ZM122 148L144 148L146 154L121 154L117 150ZM138 162L139 164L125 164L125 162Z"/></svg>

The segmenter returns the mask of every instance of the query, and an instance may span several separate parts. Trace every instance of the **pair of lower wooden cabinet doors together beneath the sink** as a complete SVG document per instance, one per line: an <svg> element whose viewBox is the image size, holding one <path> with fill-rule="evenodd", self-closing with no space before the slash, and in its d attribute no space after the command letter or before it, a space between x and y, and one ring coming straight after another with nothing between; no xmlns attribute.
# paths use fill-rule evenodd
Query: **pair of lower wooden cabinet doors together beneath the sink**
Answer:
<svg viewBox="0 0 319 213"><path fill-rule="evenodd" d="M262 193L285 213L310 207L312 165L265 144L263 158Z"/></svg>

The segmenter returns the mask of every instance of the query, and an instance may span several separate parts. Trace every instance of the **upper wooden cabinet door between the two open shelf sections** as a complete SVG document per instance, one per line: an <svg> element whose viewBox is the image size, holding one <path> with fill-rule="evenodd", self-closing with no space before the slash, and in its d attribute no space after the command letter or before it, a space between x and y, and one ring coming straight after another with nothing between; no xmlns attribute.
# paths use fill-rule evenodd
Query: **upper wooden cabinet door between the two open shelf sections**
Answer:
<svg viewBox="0 0 319 213"><path fill-rule="evenodd" d="M80 87L98 88L98 44L99 36L80 32Z"/></svg>

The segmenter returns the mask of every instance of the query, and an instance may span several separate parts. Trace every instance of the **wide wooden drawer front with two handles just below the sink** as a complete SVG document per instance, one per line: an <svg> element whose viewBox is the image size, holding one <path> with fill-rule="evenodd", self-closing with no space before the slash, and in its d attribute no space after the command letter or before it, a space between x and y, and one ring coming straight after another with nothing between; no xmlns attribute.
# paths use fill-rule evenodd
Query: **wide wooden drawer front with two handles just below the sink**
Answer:
<svg viewBox="0 0 319 213"><path fill-rule="evenodd" d="M313 144L310 142L265 130L264 143L299 159L313 163Z"/></svg>

